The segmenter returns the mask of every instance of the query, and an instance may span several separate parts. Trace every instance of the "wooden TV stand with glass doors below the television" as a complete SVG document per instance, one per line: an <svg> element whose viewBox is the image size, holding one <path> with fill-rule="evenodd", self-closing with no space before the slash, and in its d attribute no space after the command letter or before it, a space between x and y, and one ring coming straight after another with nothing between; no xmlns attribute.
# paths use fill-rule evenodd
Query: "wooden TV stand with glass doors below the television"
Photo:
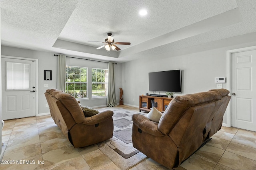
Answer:
<svg viewBox="0 0 256 170"><path fill-rule="evenodd" d="M155 97L155 96L140 96L140 111L149 112L152 108L151 101L154 100L157 106L156 109L159 111L165 111L172 98L168 97Z"/></svg>

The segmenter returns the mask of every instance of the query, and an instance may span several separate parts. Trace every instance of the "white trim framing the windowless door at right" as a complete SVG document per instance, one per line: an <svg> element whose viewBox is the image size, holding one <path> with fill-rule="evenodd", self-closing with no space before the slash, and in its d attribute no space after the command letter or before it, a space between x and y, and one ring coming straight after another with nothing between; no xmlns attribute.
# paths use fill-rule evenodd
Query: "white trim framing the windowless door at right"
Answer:
<svg viewBox="0 0 256 170"><path fill-rule="evenodd" d="M250 50L256 50L256 46L251 46L251 47L244 47L244 48L240 48L240 49L233 49L233 50L228 50L227 51L227 90L230 91L230 96L232 93L232 80L231 80L231 74L232 74L232 63L231 63L231 56L233 53L238 53L238 52L243 52L243 51L250 51ZM226 127L231 127L231 110L232 110L232 97L231 100L228 104L228 107L226 109L226 113L227 113L227 123L226 125L223 123L222 125L226 126Z"/></svg>

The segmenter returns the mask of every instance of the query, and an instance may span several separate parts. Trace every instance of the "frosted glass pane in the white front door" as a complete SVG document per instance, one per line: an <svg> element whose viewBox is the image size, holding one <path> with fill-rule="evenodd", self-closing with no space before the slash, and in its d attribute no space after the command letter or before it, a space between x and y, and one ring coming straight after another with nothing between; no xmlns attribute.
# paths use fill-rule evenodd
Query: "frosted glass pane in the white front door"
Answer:
<svg viewBox="0 0 256 170"><path fill-rule="evenodd" d="M7 90L29 89L30 64L6 63Z"/></svg>

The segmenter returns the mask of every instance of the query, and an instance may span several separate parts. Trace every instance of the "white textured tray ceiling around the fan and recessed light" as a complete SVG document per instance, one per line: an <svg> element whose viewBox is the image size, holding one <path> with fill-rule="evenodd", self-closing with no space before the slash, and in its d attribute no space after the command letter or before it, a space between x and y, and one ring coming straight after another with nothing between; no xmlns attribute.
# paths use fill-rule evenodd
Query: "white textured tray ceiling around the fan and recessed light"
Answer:
<svg viewBox="0 0 256 170"><path fill-rule="evenodd" d="M1 0L2 45L125 62L256 32L255 0ZM148 14L140 16L141 9ZM112 33L120 51L98 42Z"/></svg>

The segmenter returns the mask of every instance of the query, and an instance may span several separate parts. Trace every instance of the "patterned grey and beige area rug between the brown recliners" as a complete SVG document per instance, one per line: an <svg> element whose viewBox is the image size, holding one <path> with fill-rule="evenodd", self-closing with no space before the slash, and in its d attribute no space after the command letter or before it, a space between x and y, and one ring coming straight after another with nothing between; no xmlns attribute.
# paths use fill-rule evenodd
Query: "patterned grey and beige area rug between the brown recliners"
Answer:
<svg viewBox="0 0 256 170"><path fill-rule="evenodd" d="M147 156L132 146L132 115L134 111L113 110L113 138L98 144L99 149L121 170L127 170Z"/></svg>

